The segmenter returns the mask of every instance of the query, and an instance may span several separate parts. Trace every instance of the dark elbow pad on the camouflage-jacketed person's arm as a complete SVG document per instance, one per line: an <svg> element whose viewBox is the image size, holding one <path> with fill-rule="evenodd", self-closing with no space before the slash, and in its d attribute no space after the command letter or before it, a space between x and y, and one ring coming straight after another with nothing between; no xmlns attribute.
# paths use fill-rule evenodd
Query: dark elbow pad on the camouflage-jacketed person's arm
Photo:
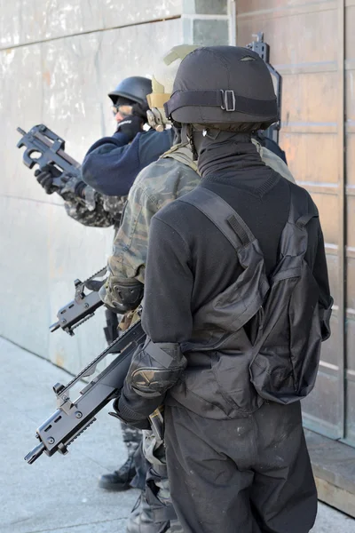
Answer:
<svg viewBox="0 0 355 533"><path fill-rule="evenodd" d="M137 309L143 298L144 285L135 278L120 280L110 276L105 288L104 303L120 314Z"/></svg>

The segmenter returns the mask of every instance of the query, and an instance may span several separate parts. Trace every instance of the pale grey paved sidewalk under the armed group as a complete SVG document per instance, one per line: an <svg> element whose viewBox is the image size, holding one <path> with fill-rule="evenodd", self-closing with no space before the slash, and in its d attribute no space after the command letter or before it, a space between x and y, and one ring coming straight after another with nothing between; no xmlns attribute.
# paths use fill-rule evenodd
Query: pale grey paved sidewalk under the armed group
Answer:
<svg viewBox="0 0 355 533"><path fill-rule="evenodd" d="M124 533L138 491L107 493L100 473L126 458L119 424L105 412L66 457L23 457L36 446L36 427L55 409L51 386L67 383L63 370L0 338L1 533ZM319 505L312 533L355 533L355 521ZM285 532L286 533L286 532Z"/></svg>

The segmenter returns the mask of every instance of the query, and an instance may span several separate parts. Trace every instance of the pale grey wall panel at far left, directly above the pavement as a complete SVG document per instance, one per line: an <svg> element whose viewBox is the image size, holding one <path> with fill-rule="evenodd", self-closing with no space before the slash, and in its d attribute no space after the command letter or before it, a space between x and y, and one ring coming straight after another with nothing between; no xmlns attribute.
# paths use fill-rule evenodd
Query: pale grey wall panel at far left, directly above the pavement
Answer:
<svg viewBox="0 0 355 533"><path fill-rule="evenodd" d="M0 335L45 356L50 204L0 198Z"/></svg>

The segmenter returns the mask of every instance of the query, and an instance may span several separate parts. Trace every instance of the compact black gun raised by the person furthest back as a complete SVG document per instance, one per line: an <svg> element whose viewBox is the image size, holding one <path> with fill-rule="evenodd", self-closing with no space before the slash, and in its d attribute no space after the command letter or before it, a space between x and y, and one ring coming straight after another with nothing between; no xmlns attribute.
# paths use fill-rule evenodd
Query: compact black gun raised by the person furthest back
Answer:
<svg viewBox="0 0 355 533"><path fill-rule="evenodd" d="M81 164L67 155L65 140L44 124L34 126L28 133L21 128L17 128L17 131L22 135L17 147L26 147L23 163L29 169L38 164L41 171L45 166L49 166L53 177L52 186L57 187L57 192L60 195L65 195L67 192L74 193L75 185L82 180Z"/></svg>

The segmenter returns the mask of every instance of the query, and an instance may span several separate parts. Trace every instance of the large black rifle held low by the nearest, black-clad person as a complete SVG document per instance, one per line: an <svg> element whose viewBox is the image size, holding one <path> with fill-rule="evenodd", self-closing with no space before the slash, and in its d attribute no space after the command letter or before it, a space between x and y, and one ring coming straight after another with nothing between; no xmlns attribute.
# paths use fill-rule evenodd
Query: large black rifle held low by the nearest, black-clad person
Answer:
<svg viewBox="0 0 355 533"><path fill-rule="evenodd" d="M61 454L67 453L67 446L91 426L99 410L118 396L130 368L132 355L145 338L146 334L138 321L79 372L67 386L60 383L53 386L58 409L37 429L36 438L40 443L25 457L29 465L32 465L43 452L49 457L57 451ZM105 370L83 387L79 397L73 402L69 396L70 389L82 378L91 376L98 363L108 354L118 355Z"/></svg>

